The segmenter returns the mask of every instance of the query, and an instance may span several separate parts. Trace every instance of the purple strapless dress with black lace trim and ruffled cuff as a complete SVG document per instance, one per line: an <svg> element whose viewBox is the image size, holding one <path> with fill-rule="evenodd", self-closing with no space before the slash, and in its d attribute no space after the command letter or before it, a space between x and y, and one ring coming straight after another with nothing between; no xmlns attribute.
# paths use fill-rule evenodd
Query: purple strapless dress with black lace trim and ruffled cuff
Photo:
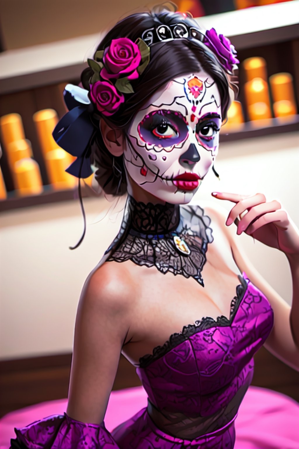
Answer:
<svg viewBox="0 0 299 449"><path fill-rule="evenodd" d="M140 359L148 406L111 433L66 414L15 429L13 449L232 449L253 355L273 327L267 298L243 273L230 318L205 318Z"/></svg>

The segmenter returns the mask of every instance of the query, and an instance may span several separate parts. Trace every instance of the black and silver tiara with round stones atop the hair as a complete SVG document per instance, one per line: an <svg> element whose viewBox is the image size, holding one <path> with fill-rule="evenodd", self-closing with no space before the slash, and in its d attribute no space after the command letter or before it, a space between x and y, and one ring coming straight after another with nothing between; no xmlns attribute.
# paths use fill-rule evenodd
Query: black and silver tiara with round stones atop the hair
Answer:
<svg viewBox="0 0 299 449"><path fill-rule="evenodd" d="M204 41L204 31L199 31L193 26L187 26L185 23L176 23L175 25L158 25L143 31L141 39L147 45L156 44L161 41L173 39L196 39Z"/></svg>

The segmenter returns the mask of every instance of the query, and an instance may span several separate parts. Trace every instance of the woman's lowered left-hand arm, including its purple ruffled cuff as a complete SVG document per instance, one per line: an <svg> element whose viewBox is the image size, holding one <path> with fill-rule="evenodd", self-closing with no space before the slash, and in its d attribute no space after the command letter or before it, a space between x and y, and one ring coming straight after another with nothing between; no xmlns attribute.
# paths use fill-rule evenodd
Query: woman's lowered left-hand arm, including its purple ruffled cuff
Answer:
<svg viewBox="0 0 299 449"><path fill-rule="evenodd" d="M134 300L130 277L113 263L87 278L75 325L67 412L15 429L14 449L117 449L104 415L129 329ZM118 268L118 267L117 267Z"/></svg>

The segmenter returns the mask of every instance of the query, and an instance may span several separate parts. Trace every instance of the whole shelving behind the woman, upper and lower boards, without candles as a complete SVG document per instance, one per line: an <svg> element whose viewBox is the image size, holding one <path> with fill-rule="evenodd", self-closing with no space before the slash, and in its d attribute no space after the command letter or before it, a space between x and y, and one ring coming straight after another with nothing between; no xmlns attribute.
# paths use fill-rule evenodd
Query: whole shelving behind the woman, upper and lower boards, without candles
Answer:
<svg viewBox="0 0 299 449"><path fill-rule="evenodd" d="M298 24L299 0L271 4L249 9L230 11L195 19L205 29L214 27L218 33L230 38L238 50L242 62L247 57L258 55L267 60L268 75L280 71L293 74L294 87L299 97ZM13 179L9 172L5 154L1 159L4 181L9 190L8 198L0 200L0 211L31 207L50 202L69 201L78 198L78 188L53 191L43 156L39 148L32 115L36 110L53 108L62 117L66 110L62 91L64 83L78 83L80 74L87 66L87 57L92 56L100 34L88 35L50 44L36 45L21 50L10 50L0 54L0 115L17 112L22 116L26 137L31 141L35 160L39 163L43 179L43 194L17 197ZM252 49L252 51L251 51ZM268 61L269 60L269 61ZM245 82L240 65L240 86ZM244 105L244 92L240 89L239 101ZM244 108L245 109L245 108ZM248 120L244 110L245 120ZM247 122L238 130L221 129L220 142L251 139L271 134L298 132L299 115L281 123L271 119L256 126ZM82 186L82 196L95 195Z"/></svg>

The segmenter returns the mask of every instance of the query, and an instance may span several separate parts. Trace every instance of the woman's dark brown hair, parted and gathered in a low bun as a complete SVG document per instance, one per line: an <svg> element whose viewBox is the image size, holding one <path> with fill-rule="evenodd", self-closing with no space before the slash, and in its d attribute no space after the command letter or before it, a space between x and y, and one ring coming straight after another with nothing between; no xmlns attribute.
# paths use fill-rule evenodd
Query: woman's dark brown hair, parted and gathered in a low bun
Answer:
<svg viewBox="0 0 299 449"><path fill-rule="evenodd" d="M199 29L191 17L183 18L181 13L155 10L147 13L132 14L108 31L98 45L97 50L108 47L111 40L127 37L132 41L141 38L143 31L158 25L173 25L184 22L187 26ZM134 93L126 94L125 102L117 113L103 118L111 128L126 131L137 111L152 94L168 81L188 73L205 70L216 82L221 97L222 119L226 119L230 106L229 82L227 74L217 58L201 42L188 39L174 39L158 42L150 46L150 61L143 74L132 82ZM93 74L90 68L82 72L82 84L90 90L89 79ZM106 194L122 195L126 193L126 175L122 156L113 156L104 145L99 127L99 115L92 118L98 131L91 145L91 163L97 167L95 179Z"/></svg>

